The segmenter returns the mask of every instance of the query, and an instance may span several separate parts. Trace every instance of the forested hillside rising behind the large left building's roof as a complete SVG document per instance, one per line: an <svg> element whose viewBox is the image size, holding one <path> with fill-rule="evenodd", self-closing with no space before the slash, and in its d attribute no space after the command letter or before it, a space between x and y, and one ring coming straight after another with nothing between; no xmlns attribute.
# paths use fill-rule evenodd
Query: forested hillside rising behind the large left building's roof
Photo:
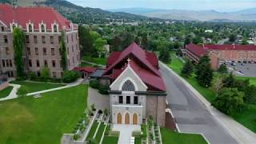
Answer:
<svg viewBox="0 0 256 144"><path fill-rule="evenodd" d="M13 0L2 0L0 2L13 2ZM18 0L18 6L51 6L58 10L66 18L75 23L102 24L107 22L133 22L153 21L156 18L128 14L125 12L110 12L98 8L77 6L65 0Z"/></svg>

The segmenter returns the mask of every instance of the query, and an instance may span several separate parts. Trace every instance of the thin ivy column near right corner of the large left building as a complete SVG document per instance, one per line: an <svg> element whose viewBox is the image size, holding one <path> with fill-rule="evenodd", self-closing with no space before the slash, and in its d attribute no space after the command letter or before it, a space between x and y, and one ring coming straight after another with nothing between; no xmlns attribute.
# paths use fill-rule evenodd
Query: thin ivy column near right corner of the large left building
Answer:
<svg viewBox="0 0 256 144"><path fill-rule="evenodd" d="M65 32L62 30L61 44L60 44L60 52L61 52L61 66L62 70L66 70L66 43L65 43Z"/></svg>

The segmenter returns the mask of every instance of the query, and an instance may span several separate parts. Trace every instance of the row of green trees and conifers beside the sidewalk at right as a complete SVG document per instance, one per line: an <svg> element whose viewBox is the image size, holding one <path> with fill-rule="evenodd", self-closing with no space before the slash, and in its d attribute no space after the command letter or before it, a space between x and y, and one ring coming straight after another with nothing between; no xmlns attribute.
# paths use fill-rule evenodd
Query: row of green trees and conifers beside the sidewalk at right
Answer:
<svg viewBox="0 0 256 144"><path fill-rule="evenodd" d="M210 58L205 55L200 58L197 65L189 60L182 67L181 74L185 78L190 78L195 74L198 84L203 87L210 87L214 78L214 71L210 66ZM225 114L233 114L242 111L245 102L256 102L256 86L251 86L249 79L237 80L233 74L227 74L226 65L222 64L218 68L217 80L214 83L216 97L211 102L218 110Z"/></svg>

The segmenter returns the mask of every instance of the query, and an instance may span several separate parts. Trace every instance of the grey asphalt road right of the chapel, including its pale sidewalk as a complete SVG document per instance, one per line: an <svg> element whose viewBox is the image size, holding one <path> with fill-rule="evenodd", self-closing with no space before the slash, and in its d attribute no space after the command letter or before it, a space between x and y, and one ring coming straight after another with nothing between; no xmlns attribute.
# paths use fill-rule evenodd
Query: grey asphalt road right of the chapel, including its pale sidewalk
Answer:
<svg viewBox="0 0 256 144"><path fill-rule="evenodd" d="M161 63L162 75L171 91L167 96L178 128L202 133L210 143L256 143L256 134L210 105L184 78ZM168 77L168 81L166 78ZM169 91L168 91L169 93ZM170 96L169 96L170 95Z"/></svg>

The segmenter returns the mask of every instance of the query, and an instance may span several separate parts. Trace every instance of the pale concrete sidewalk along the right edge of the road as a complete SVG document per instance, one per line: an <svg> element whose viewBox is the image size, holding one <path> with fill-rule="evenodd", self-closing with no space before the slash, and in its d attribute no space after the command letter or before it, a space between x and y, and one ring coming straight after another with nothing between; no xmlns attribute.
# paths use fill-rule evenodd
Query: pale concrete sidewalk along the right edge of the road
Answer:
<svg viewBox="0 0 256 144"><path fill-rule="evenodd" d="M210 105L210 102L208 102L206 98L204 98L202 94L198 92L198 90L195 90L194 87L190 85L190 83L186 82L184 78L180 77L162 62L160 62L160 64L166 67L170 73L179 78L186 85L186 87L189 88L206 106L206 110L208 110L210 114L213 115L216 121L219 122L239 143L256 143L256 134L254 132L247 129L245 126L242 126L240 123L234 121L234 119L230 118L229 116L226 116L226 114L222 114L222 112L216 110L213 106Z"/></svg>

